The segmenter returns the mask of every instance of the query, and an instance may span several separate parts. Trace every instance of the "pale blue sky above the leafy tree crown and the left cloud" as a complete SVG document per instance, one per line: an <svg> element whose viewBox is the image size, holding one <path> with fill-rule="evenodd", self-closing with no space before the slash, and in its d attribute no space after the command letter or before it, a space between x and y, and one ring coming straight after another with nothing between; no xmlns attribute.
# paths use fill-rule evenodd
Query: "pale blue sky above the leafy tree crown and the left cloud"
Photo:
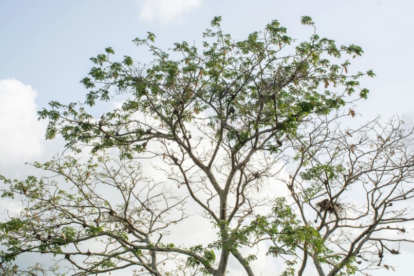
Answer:
<svg viewBox="0 0 414 276"><path fill-rule="evenodd" d="M179 2L181 10L173 10ZM131 42L147 31L155 33L157 44L164 48L175 41L201 41L209 21L221 15L224 29L234 38L242 39L278 19L292 37L304 39L310 32L300 25L300 17L309 15L322 36L362 46L366 54L355 68L372 68L378 75L370 98L378 99L382 91L376 90L393 89L398 99L388 103L397 106L399 98L413 89L413 8L408 0L1 1L0 79L32 85L39 106L52 99L77 101L86 92L79 80L91 67L89 58L112 46L121 55L148 59ZM410 111L409 104L403 107Z"/></svg>

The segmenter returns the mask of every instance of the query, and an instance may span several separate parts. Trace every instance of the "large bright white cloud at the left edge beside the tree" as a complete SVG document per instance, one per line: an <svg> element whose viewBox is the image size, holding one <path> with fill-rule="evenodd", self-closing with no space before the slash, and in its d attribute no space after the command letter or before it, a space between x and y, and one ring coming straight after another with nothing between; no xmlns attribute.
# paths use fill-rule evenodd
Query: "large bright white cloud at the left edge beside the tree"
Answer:
<svg viewBox="0 0 414 276"><path fill-rule="evenodd" d="M16 79L0 80L0 167L43 153L44 122L38 121L37 92Z"/></svg>

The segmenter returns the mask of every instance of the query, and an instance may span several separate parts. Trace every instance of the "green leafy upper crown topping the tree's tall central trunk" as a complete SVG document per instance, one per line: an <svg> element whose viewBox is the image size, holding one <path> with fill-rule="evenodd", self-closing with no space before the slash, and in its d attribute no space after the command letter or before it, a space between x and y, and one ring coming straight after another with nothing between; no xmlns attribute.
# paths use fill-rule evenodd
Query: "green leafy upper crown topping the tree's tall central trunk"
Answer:
<svg viewBox="0 0 414 276"><path fill-rule="evenodd" d="M326 115L343 106L344 96L359 89L358 78L374 76L372 71L347 75L343 68L350 66L349 60L334 64L327 59L343 54L360 56L363 51L356 45L337 46L315 34L299 43L294 54L282 56L279 52L289 47L292 39L279 21L273 20L265 32L253 32L241 41L223 33L220 22L220 17L211 21L213 30L204 33L209 41L203 43L201 53L185 41L175 43L172 52L180 53L182 59L170 59L169 53L155 47L152 33L133 40L137 46L148 47L154 56L146 67L136 68L128 56L112 61L113 49L105 48L105 54L91 58L95 66L81 80L91 89L84 104L93 106L96 100L107 101L118 94L131 98L100 120L88 114L82 104L51 102L51 110L39 112L40 118L49 119L46 138L60 134L75 151L86 143L93 145L93 153L118 148L122 158L133 158L146 150L142 144L151 138L132 123L133 114L155 118L165 130L164 138L177 139L177 119L190 122L200 112L215 108L208 123L220 126L223 119L230 119L215 131L217 137L224 132L224 141L238 152L253 139L256 129L276 125L278 136L294 134L304 118ZM308 16L301 22L314 24ZM328 90L329 86L333 88ZM361 98L367 94L367 89L360 89ZM234 113L228 113L230 107ZM267 149L277 152L271 143Z"/></svg>

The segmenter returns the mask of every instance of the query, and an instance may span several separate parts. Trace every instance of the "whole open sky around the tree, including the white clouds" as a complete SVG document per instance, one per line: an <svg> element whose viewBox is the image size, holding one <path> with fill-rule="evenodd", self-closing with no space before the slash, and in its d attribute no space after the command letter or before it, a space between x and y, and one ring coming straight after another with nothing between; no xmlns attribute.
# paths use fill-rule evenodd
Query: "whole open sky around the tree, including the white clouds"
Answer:
<svg viewBox="0 0 414 276"><path fill-rule="evenodd" d="M200 43L214 16L222 16L234 39L277 19L301 40L312 30L300 18L312 17L321 37L362 47L365 54L351 60L352 68L376 73L361 80L370 90L355 109L361 122L393 114L414 122L413 10L412 0L1 0L0 174L23 177L32 172L25 162L62 151L62 140L44 140L46 123L36 111L52 100L83 101L87 91L79 80L93 66L90 57L113 47L146 62L151 56L132 39L150 31L164 49L176 41ZM395 275L408 273L403 255L393 261Z"/></svg>

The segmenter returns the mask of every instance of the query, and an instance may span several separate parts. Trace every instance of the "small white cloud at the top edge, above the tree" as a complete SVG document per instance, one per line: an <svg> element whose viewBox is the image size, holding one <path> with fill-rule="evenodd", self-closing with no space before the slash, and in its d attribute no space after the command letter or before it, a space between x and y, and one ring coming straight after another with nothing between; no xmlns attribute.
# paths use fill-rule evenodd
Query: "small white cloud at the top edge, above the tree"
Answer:
<svg viewBox="0 0 414 276"><path fill-rule="evenodd" d="M144 0L140 20L160 20L163 23L183 20L202 0Z"/></svg>

